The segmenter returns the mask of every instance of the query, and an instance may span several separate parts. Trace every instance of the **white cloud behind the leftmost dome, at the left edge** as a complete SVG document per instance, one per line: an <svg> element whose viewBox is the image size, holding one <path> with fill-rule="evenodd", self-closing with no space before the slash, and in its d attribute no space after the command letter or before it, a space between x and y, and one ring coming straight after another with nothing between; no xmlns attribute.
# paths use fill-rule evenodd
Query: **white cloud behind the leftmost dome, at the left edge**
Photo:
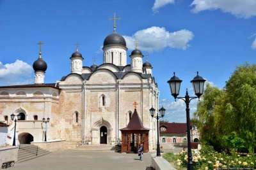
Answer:
<svg viewBox="0 0 256 170"><path fill-rule="evenodd" d="M0 84L15 85L31 83L32 67L22 60L3 64L0 62Z"/></svg>

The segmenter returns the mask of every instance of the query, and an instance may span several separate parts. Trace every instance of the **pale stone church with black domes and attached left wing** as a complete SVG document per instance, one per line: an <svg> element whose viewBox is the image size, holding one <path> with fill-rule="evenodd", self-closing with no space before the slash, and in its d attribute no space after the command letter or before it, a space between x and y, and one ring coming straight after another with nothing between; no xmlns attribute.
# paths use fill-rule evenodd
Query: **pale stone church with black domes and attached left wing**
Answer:
<svg viewBox="0 0 256 170"><path fill-rule="evenodd" d="M56 83L45 83L47 64L41 50L33 64L35 83L0 87L0 121L9 126L10 115L17 120L17 143L65 140L76 143L110 144L121 141L121 131L129 124L134 106L143 126L149 130L149 149L156 141L156 120L149 109L158 110L159 90L152 65L143 62L143 53L132 50L127 64L125 39L114 30L104 39L103 63L83 66L83 55L70 57L70 74ZM43 118L45 121L43 122ZM47 122L49 118L49 122Z"/></svg>

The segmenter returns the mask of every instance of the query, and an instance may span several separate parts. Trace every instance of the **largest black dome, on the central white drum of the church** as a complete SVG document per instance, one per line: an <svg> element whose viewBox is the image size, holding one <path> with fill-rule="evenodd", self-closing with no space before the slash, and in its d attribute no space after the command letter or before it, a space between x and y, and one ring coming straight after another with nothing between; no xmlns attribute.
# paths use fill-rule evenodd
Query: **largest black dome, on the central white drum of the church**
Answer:
<svg viewBox="0 0 256 170"><path fill-rule="evenodd" d="M120 36L116 32L109 34L105 39L103 46L111 46L111 45L118 45L126 47L126 42L123 36Z"/></svg>

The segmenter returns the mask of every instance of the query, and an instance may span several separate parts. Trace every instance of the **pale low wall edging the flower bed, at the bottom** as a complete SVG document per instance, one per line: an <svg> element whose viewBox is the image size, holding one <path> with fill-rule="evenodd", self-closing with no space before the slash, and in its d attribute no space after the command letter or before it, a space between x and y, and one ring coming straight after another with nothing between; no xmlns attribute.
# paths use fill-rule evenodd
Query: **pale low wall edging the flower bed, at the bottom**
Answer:
<svg viewBox="0 0 256 170"><path fill-rule="evenodd" d="M151 154L152 166L156 170L176 170L167 160L163 157L156 157L156 153Z"/></svg>

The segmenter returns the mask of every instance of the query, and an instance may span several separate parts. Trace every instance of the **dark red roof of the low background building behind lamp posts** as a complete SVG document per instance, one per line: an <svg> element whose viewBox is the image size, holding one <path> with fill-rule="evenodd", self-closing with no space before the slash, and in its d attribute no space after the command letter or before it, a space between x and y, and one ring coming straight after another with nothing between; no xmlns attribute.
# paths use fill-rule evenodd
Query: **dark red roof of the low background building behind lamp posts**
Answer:
<svg viewBox="0 0 256 170"><path fill-rule="evenodd" d="M161 134L186 134L187 124L186 123L160 123ZM166 127L166 131L161 131L161 127Z"/></svg>

